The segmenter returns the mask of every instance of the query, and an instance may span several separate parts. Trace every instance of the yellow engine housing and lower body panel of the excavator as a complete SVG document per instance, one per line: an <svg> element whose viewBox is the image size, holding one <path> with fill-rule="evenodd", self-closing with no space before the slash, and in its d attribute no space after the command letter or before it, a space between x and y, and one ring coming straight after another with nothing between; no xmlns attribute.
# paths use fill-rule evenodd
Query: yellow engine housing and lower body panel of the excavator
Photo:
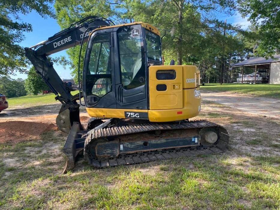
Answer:
<svg viewBox="0 0 280 210"><path fill-rule="evenodd" d="M161 80L157 73L174 72L174 79ZM157 90L158 85L166 90ZM149 109L127 110L86 108L92 117L125 118L125 112L148 113L150 122L172 122L198 115L201 108L200 72L192 65L160 65L149 67Z"/></svg>

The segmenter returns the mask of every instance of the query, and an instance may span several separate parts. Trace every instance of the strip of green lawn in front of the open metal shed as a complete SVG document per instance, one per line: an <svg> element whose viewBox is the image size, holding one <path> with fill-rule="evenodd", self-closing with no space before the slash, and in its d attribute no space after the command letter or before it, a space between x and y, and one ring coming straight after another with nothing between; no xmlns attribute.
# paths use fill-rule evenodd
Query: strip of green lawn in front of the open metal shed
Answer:
<svg viewBox="0 0 280 210"><path fill-rule="evenodd" d="M200 86L202 90L222 92L229 91L231 93L243 93L252 96L262 96L269 98L280 98L280 85L272 84L217 84L206 83Z"/></svg>

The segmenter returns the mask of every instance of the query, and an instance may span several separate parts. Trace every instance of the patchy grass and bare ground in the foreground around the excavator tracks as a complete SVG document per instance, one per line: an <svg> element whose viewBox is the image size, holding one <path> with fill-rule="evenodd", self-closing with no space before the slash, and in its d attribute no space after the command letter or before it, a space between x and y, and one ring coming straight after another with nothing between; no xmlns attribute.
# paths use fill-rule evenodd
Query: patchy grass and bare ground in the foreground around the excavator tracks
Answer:
<svg viewBox="0 0 280 210"><path fill-rule="evenodd" d="M80 160L61 174L60 131L0 144L0 209L279 209L279 120L203 106L230 134L223 154L103 169Z"/></svg>

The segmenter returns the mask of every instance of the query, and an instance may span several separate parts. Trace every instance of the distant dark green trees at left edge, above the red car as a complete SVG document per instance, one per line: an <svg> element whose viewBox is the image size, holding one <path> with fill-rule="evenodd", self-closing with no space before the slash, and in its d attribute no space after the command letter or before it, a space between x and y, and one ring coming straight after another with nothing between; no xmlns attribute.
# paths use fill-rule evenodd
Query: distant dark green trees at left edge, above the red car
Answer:
<svg viewBox="0 0 280 210"><path fill-rule="evenodd" d="M22 79L11 79L9 76L0 77L0 93L7 98L26 95L24 81Z"/></svg>

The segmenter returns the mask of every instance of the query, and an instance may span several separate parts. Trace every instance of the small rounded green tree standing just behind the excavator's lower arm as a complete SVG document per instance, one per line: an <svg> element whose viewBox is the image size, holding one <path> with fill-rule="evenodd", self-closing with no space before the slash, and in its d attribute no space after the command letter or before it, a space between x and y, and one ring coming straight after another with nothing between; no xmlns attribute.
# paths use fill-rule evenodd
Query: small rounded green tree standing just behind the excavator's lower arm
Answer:
<svg viewBox="0 0 280 210"><path fill-rule="evenodd" d="M37 95L39 92L49 89L42 77L36 73L36 70L33 66L28 72L24 87L26 92L32 95Z"/></svg>

